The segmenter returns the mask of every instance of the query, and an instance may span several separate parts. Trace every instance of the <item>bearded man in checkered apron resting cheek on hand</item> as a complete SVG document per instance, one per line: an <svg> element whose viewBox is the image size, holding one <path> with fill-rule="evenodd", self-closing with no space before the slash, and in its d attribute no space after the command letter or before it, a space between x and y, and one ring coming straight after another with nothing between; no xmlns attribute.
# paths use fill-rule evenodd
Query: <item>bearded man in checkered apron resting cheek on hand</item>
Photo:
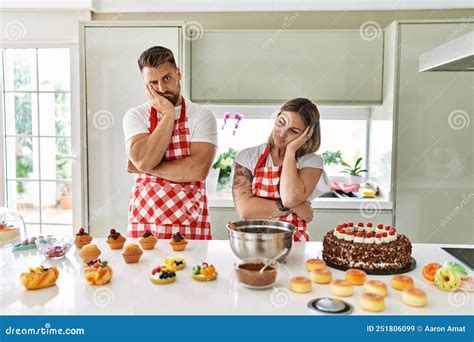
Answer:
<svg viewBox="0 0 474 342"><path fill-rule="evenodd" d="M205 179L217 151L217 122L181 96L181 71L171 50L155 46L138 66L149 101L123 119L128 172L135 174L128 236L150 230L169 239L211 239Z"/></svg>

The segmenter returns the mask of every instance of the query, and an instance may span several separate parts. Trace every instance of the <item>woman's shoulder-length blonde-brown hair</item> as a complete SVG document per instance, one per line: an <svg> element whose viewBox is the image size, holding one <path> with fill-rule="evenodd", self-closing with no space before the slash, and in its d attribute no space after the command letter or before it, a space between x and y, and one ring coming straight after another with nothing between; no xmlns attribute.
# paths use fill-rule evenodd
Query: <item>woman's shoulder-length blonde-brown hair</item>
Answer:
<svg viewBox="0 0 474 342"><path fill-rule="evenodd" d="M298 97L296 99L289 100L285 102L280 110L278 111L277 118L282 112L294 112L301 115L304 124L306 127L313 126L313 135L301 146L296 152L296 157L300 158L308 153L314 153L319 149L321 145L321 127L319 124L319 110L316 107L316 104L311 102L311 100ZM268 138L268 144L271 147L275 146L273 141L273 134L270 134Z"/></svg>

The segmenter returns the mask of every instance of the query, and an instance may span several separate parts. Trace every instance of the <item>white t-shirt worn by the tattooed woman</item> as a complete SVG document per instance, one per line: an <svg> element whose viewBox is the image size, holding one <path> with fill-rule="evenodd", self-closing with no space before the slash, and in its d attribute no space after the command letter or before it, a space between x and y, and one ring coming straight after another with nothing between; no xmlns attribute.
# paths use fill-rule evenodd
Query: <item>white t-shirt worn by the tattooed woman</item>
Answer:
<svg viewBox="0 0 474 342"><path fill-rule="evenodd" d="M257 165L258 158L260 158L260 156L263 154L266 147L267 144L264 143L255 147L246 148L245 150L242 150L237 154L237 156L235 157L235 162L249 169L253 175L253 170L255 169L255 165ZM268 155L267 157L265 166L274 166L273 160L270 155ZM315 153L309 153L301 158L298 158L298 160L296 161L296 168L303 169L305 167L312 167L323 170L318 184L316 185L313 192L308 198L309 201L312 201L316 197L319 197L322 194L331 191L329 187L328 177L326 175L326 172L324 172L323 168L323 158L320 155Z"/></svg>

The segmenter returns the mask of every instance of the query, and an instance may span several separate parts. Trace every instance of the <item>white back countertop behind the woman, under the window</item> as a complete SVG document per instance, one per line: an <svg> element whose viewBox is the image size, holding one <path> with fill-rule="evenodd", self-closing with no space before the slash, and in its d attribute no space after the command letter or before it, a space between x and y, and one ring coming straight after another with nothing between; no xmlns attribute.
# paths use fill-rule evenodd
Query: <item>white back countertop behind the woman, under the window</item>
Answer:
<svg viewBox="0 0 474 342"><path fill-rule="evenodd" d="M208 193L209 207L234 208L232 194L219 191ZM392 210L392 202L385 197L376 198L330 198L319 197L311 202L313 209L342 209L342 210Z"/></svg>

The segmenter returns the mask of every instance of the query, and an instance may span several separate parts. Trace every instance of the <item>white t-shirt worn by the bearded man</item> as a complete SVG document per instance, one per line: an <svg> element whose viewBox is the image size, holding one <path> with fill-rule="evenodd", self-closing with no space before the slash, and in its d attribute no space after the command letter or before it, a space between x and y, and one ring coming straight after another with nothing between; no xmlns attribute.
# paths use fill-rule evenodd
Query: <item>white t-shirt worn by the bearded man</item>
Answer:
<svg viewBox="0 0 474 342"><path fill-rule="evenodd" d="M149 133L150 102L130 108L123 117L123 134L127 145L131 137L141 133ZM181 106L175 109L175 118L181 115ZM196 103L186 100L186 120L191 142L207 142L217 146L217 121L214 114Z"/></svg>

